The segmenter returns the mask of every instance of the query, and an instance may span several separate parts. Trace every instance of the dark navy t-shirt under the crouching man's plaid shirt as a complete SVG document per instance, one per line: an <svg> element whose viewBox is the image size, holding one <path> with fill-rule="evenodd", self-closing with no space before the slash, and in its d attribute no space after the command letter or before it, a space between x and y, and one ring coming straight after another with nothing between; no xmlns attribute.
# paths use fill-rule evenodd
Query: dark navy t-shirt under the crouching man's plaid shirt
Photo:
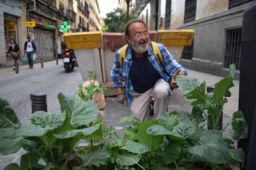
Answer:
<svg viewBox="0 0 256 170"><path fill-rule="evenodd" d="M129 73L132 86L136 92L146 92L155 85L161 75L148 60L148 52L145 52L143 57L135 57L134 52L132 52L132 60Z"/></svg>

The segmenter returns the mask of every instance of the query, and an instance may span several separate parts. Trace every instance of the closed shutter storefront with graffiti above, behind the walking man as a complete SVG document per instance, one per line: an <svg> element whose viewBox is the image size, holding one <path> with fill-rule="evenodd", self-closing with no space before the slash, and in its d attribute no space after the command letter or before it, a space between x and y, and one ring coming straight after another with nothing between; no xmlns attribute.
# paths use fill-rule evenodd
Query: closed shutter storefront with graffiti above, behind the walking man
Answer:
<svg viewBox="0 0 256 170"><path fill-rule="evenodd" d="M56 50L56 21L34 13L30 13L30 21L36 22L36 26L32 30L32 39L35 40L40 57L43 57L44 60L53 60Z"/></svg>

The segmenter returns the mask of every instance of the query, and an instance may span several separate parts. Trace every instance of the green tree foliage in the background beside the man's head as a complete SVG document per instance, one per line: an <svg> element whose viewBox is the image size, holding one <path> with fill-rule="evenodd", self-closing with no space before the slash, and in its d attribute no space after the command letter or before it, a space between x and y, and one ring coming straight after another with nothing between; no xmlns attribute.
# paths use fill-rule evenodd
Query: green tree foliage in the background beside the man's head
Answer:
<svg viewBox="0 0 256 170"><path fill-rule="evenodd" d="M129 14L129 20L135 18L137 18L137 15ZM119 18L116 16L115 11L109 12L103 20L105 25L102 26L101 31L110 33L124 32L126 26L126 12L121 11ZM117 28L117 24L119 29Z"/></svg>

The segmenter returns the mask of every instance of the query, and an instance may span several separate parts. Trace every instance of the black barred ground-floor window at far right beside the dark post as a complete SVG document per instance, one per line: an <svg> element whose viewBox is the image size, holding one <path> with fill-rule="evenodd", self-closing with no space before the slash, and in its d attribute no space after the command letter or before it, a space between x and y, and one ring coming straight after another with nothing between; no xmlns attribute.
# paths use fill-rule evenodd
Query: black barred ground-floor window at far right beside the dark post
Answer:
<svg viewBox="0 0 256 170"><path fill-rule="evenodd" d="M241 38L242 28L227 30L224 67L229 68L229 65L234 63L236 65L236 69L240 70Z"/></svg>

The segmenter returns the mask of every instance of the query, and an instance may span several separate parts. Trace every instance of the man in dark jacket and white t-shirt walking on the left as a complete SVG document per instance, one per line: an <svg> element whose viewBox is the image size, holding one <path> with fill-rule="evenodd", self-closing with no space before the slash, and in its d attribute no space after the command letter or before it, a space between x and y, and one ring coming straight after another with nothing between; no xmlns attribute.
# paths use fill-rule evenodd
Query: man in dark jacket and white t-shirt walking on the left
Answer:
<svg viewBox="0 0 256 170"><path fill-rule="evenodd" d="M24 54L27 54L29 67L33 69L33 54L36 52L38 55L38 50L36 49L35 43L31 41L30 36L27 36L27 41L24 44Z"/></svg>

